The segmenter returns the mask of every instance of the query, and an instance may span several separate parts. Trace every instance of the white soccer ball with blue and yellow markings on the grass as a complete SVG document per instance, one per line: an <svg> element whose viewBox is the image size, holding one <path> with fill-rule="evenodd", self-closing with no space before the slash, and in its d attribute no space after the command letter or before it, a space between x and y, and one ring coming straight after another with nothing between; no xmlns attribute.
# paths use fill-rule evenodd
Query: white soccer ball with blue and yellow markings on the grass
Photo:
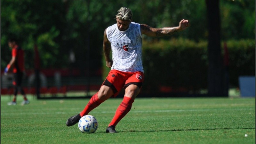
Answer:
<svg viewBox="0 0 256 144"><path fill-rule="evenodd" d="M98 128L98 121L94 116L83 116L78 122L78 128L83 133L93 133Z"/></svg>

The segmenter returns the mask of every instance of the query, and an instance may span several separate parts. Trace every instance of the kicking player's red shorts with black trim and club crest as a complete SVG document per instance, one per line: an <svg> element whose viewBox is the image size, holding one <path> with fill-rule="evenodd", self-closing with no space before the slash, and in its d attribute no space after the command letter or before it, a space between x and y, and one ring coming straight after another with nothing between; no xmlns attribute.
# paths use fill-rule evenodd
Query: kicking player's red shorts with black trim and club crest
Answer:
<svg viewBox="0 0 256 144"><path fill-rule="evenodd" d="M102 85L106 85L112 88L114 97L121 91L122 88L126 88L130 84L137 85L141 88L144 80L144 73L137 72L124 72L119 70L110 70L106 80Z"/></svg>

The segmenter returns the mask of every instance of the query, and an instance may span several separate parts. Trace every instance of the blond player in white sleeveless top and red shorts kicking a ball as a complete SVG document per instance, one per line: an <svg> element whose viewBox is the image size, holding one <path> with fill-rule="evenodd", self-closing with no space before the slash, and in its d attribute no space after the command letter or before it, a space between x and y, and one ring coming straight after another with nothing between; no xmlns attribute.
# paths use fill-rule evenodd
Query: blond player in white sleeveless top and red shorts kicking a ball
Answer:
<svg viewBox="0 0 256 144"><path fill-rule="evenodd" d="M118 122L131 110L132 103L139 94L144 73L142 67L142 34L146 36L170 36L190 26L188 20L181 20L178 27L151 28L146 24L132 22L132 11L122 7L117 11L116 24L104 31L103 50L106 66L111 68L100 90L94 94L79 114L70 117L66 125L72 126L111 96L115 97L122 88L124 99L108 125L106 132L115 133ZM110 59L112 51L112 60Z"/></svg>

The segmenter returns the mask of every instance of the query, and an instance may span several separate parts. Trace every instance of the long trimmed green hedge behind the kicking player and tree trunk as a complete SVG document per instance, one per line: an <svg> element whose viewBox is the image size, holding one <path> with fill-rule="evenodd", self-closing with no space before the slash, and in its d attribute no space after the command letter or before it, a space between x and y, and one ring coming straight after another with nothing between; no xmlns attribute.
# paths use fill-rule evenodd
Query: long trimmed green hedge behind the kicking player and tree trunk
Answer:
<svg viewBox="0 0 256 144"><path fill-rule="evenodd" d="M222 55L224 42L222 42ZM227 41L229 53L229 83L238 87L238 77L255 75L255 40ZM142 89L157 92L167 91L198 92L207 88L208 56L207 41L171 39L143 41L143 67L145 80ZM223 67L224 68L224 67ZM103 60L105 79L109 68Z"/></svg>

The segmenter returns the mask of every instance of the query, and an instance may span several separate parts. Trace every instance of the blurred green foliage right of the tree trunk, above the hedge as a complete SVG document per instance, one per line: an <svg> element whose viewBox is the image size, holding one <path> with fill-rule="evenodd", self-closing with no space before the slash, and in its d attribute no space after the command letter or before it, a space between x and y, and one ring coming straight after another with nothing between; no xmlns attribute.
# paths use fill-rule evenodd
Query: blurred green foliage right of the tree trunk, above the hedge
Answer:
<svg viewBox="0 0 256 144"><path fill-rule="evenodd" d="M255 39L255 1L220 0L221 36L228 39Z"/></svg>

